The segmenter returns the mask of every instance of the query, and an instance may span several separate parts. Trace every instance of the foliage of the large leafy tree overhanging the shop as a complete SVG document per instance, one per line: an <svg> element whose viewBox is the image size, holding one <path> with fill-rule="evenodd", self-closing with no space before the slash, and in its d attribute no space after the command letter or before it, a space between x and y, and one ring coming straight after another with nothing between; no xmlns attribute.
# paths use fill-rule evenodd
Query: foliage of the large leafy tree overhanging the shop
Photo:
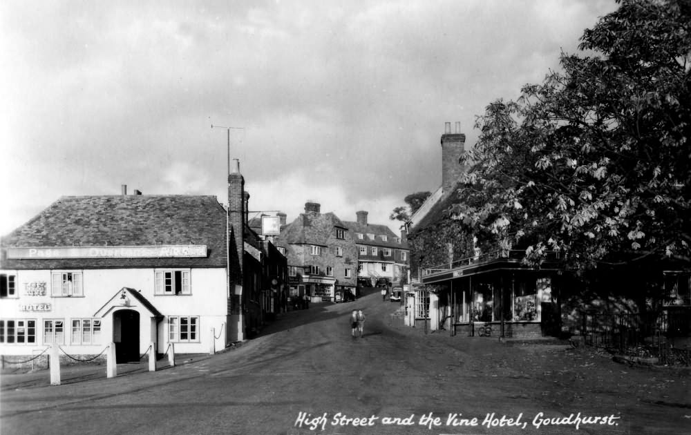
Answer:
<svg viewBox="0 0 691 435"><path fill-rule="evenodd" d="M478 117L453 215L527 262L691 260L691 2L623 0L562 70Z"/></svg>

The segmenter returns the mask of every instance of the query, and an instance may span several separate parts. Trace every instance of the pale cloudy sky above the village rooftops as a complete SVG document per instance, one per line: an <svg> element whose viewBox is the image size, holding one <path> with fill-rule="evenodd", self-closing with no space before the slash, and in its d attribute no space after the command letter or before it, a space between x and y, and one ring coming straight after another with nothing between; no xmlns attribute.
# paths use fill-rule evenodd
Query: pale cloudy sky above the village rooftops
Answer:
<svg viewBox="0 0 691 435"><path fill-rule="evenodd" d="M387 224L495 99L558 69L614 0L0 2L0 234L64 195L305 202ZM230 130L211 125L234 127ZM228 146L229 144L229 146ZM229 152L228 152L229 149Z"/></svg>

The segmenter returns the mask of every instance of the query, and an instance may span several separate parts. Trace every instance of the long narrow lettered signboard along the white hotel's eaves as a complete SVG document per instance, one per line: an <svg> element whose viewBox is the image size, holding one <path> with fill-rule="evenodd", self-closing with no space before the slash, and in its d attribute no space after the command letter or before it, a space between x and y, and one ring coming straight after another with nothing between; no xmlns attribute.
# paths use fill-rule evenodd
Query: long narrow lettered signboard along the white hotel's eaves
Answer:
<svg viewBox="0 0 691 435"><path fill-rule="evenodd" d="M8 248L7 258L189 258L206 257L205 244L158 244L141 247Z"/></svg>

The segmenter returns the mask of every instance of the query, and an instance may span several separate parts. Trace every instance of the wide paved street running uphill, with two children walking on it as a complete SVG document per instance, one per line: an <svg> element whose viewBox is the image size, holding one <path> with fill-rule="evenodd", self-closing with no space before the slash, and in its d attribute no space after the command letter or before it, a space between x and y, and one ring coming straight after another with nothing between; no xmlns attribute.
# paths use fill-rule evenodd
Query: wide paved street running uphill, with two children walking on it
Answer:
<svg viewBox="0 0 691 435"><path fill-rule="evenodd" d="M312 305L286 313L238 349L155 373L84 376L57 387L7 376L1 433L691 433L688 375L565 346L426 335L403 327L392 316L397 307L376 293ZM348 322L354 308L368 315L356 340ZM607 419L576 429L579 412ZM421 421L430 413L439 420ZM488 414L498 425L483 425ZM536 416L536 423L561 424L536 427Z"/></svg>

